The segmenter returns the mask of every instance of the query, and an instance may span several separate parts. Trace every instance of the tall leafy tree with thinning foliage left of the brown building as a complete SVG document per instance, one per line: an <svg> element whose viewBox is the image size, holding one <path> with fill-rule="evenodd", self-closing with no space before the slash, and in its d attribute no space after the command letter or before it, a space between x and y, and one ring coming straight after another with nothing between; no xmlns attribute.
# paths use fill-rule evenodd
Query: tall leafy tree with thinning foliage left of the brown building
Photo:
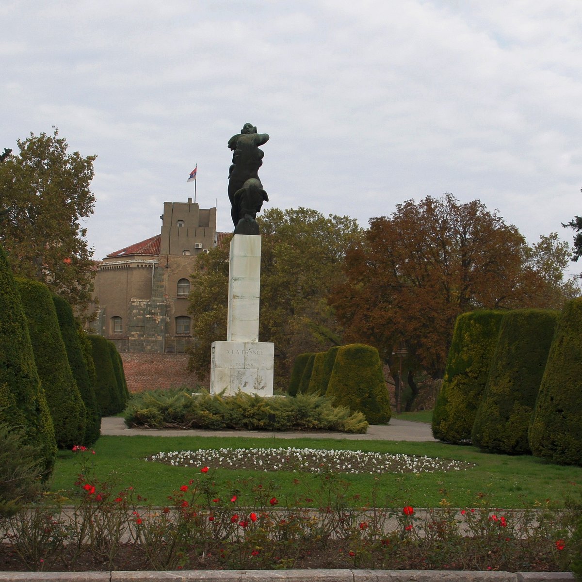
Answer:
<svg viewBox="0 0 582 582"><path fill-rule="evenodd" d="M87 229L95 155L68 154L66 140L33 133L18 140L20 153L0 164L0 242L15 274L44 282L74 307L93 290Z"/></svg>

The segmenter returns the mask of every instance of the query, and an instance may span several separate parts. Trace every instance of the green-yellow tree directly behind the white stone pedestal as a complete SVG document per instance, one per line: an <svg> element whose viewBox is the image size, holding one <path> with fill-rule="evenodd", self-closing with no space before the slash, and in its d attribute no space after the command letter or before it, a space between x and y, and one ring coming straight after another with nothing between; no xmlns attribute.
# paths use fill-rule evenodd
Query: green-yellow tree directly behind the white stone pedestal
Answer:
<svg viewBox="0 0 582 582"><path fill-rule="evenodd" d="M259 222L259 337L275 343L275 377L286 387L297 354L321 352L340 342L340 328L326 297L343 280L345 251L360 240L361 229L349 217L325 217L308 208L271 208ZM201 375L210 367L211 343L226 339L228 258L228 249L213 249L198 257L192 275L190 369Z"/></svg>

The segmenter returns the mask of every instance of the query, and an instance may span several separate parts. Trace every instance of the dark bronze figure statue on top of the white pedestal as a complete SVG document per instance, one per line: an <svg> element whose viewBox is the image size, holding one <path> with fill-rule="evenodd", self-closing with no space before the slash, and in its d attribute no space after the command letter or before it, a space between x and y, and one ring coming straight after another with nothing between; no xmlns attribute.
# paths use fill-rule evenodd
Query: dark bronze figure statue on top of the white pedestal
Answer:
<svg viewBox="0 0 582 582"><path fill-rule="evenodd" d="M258 146L268 140L269 135L257 133L257 128L252 123L245 123L240 133L228 140L228 147L233 151L228 174L228 197L236 234L258 235L258 225L254 219L261 210L263 201L269 199L258 178L258 169L265 155ZM242 222L241 229L237 230L239 222Z"/></svg>

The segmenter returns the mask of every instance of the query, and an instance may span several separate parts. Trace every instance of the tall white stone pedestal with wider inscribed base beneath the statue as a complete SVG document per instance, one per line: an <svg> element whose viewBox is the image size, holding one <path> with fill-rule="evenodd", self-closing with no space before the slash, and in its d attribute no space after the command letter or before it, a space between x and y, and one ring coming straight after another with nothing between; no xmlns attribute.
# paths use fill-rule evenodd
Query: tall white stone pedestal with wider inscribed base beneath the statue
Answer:
<svg viewBox="0 0 582 582"><path fill-rule="evenodd" d="M210 393L273 395L275 345L258 340L261 237L230 242L226 342L212 343Z"/></svg>

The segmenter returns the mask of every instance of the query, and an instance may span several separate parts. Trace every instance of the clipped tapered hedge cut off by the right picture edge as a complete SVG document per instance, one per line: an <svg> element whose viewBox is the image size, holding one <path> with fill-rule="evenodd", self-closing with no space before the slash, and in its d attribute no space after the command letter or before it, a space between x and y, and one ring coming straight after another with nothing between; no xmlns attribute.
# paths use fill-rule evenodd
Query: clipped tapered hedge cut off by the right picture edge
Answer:
<svg viewBox="0 0 582 582"><path fill-rule="evenodd" d="M568 301L558 321L529 439L537 457L582 465L582 297Z"/></svg>

